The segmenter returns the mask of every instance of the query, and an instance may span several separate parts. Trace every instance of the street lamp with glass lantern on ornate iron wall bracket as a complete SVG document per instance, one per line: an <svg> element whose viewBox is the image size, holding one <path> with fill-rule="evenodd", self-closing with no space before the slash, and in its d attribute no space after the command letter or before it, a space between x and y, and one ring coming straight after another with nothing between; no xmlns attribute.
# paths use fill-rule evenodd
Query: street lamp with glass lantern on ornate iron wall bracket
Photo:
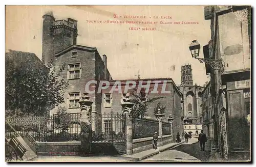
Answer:
<svg viewBox="0 0 256 167"><path fill-rule="evenodd" d="M222 62L223 62L222 60L197 58L197 57L199 57L200 48L201 48L201 46L197 40L194 40L191 42L191 44L189 46L189 50L191 52L192 58L198 59L200 61L200 63L208 64L214 70L222 70L223 71L224 65L222 64Z"/></svg>

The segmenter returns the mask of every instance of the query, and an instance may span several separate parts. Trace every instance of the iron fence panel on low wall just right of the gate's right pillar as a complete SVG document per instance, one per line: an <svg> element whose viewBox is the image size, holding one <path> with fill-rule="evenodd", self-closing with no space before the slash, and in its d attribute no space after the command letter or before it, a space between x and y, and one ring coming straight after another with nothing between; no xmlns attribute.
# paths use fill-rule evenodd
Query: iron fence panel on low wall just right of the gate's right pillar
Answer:
<svg viewBox="0 0 256 167"><path fill-rule="evenodd" d="M159 133L159 122L150 119L133 119L133 139L151 137Z"/></svg>

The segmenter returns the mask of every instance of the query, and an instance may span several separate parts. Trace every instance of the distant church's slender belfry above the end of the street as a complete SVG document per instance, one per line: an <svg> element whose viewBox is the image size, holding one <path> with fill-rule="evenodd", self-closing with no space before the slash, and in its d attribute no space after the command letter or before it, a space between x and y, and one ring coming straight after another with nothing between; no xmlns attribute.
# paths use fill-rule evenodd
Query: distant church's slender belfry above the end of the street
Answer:
<svg viewBox="0 0 256 167"><path fill-rule="evenodd" d="M181 66L181 85L193 86L192 68L190 64Z"/></svg>

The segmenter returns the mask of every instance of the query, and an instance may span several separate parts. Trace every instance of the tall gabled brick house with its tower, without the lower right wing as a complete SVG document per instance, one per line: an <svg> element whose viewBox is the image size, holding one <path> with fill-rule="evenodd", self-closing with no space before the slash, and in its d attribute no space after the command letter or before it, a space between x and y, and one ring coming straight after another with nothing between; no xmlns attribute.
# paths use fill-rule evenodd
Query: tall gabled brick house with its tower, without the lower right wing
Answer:
<svg viewBox="0 0 256 167"><path fill-rule="evenodd" d="M65 91L65 106L69 113L80 113L79 101L85 93L85 86L90 80L111 80L107 68L106 55L102 58L97 48L77 45L77 21L71 18L67 20L55 20L52 12L42 16L42 59L58 68L66 66L60 75L69 81L69 87ZM101 115L101 94L89 94L93 101L92 116ZM57 112L57 107L51 110L51 115ZM100 130L94 122L93 130ZM99 128L99 129L98 129Z"/></svg>

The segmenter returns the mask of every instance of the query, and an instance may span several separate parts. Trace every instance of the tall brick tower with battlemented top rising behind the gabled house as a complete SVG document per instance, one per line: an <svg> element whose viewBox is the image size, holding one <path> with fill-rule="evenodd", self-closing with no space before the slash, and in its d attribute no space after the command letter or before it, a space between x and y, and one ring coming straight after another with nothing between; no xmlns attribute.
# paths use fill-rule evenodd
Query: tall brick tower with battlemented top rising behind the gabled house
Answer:
<svg viewBox="0 0 256 167"><path fill-rule="evenodd" d="M53 59L54 53L71 45L76 45L77 21L55 20L53 13L48 12L42 16L42 58L48 63Z"/></svg>

